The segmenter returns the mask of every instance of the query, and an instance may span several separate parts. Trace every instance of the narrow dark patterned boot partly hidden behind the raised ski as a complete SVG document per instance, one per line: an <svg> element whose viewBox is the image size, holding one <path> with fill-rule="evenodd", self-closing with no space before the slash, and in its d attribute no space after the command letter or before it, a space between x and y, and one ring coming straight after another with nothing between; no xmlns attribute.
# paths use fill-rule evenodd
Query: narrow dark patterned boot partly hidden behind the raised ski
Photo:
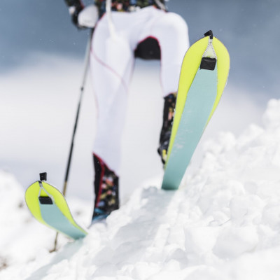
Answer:
<svg viewBox="0 0 280 280"><path fill-rule="evenodd" d="M160 146L158 148L158 154L162 159L162 163L165 165L167 160L167 151L169 146L169 140L172 132L175 104L177 93L171 93L165 97L165 106L163 109L163 124L160 132Z"/></svg>

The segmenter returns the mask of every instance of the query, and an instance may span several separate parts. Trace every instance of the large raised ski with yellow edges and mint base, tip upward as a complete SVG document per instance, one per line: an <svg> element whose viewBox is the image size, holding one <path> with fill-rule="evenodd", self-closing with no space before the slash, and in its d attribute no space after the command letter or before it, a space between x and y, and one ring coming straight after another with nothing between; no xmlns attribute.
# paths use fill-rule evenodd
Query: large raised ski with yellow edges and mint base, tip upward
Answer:
<svg viewBox="0 0 280 280"><path fill-rule="evenodd" d="M162 188L176 190L228 80L230 55L210 30L183 59Z"/></svg>

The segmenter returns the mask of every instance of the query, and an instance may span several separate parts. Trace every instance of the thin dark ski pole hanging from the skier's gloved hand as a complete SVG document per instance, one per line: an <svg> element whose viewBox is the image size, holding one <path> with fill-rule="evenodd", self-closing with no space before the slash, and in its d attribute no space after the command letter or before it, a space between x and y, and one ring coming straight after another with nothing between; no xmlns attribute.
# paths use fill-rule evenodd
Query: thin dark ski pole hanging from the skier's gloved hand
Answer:
<svg viewBox="0 0 280 280"><path fill-rule="evenodd" d="M84 89L85 89L85 81L86 81L86 78L87 78L87 70L88 70L88 65L89 65L89 61L90 61L90 44L91 44L91 41L92 41L93 31L94 31L94 29L92 29L90 31L90 36L89 36L88 41L87 41L87 48L85 50L85 62L84 62L85 66L84 66L84 71L83 71L82 83L80 84L80 98L78 100L76 120L75 120L75 124L74 124L74 127L73 127L71 146L70 146L70 151L69 151L69 156L68 156L68 161L67 161L67 166L66 166L66 172L65 172L65 177L64 177L64 185L63 185L63 190L62 190L62 194L64 196L66 195L66 190L67 190L67 183L68 183L69 171L70 171L70 167L71 167L74 140L75 140L76 130L77 130L77 126L78 126L78 118L80 116L80 105L81 105L82 99L83 99L83 92L84 92ZM56 249L57 249L57 237L58 237L58 232L57 232L57 235L55 236L55 244L54 244L53 251L56 251Z"/></svg>

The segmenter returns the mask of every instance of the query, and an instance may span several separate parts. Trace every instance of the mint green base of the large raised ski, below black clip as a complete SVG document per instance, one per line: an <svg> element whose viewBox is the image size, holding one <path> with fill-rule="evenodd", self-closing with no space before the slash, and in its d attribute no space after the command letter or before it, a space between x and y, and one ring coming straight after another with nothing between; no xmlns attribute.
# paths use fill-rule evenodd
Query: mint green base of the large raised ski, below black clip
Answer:
<svg viewBox="0 0 280 280"><path fill-rule="evenodd" d="M162 188L179 188L195 148L207 126L217 94L217 69L199 69L193 80L169 155Z"/></svg>

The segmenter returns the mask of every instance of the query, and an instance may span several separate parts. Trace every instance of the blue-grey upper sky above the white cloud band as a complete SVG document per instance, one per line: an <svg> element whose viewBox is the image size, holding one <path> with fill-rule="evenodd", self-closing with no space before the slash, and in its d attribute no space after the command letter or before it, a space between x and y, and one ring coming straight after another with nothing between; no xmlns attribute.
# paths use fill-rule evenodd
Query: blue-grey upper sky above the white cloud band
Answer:
<svg viewBox="0 0 280 280"><path fill-rule="evenodd" d="M91 3L90 0L84 1ZM231 57L229 83L279 97L279 0L170 0L169 10L188 22L190 43L212 29ZM83 59L87 31L71 25L63 0L0 1L0 71L34 52Z"/></svg>

